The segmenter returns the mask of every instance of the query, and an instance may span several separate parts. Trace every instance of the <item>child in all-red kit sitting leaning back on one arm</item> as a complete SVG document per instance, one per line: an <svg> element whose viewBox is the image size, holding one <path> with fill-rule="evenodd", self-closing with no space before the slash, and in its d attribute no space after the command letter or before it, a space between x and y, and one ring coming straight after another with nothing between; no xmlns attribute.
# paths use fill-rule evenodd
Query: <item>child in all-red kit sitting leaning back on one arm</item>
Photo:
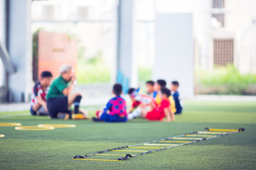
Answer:
<svg viewBox="0 0 256 170"><path fill-rule="evenodd" d="M147 120L159 121L162 121L166 117L166 122L174 121L175 116L174 113L171 113L171 103L169 101L169 96L171 96L171 91L167 88L162 88L160 90L160 105L156 108L153 108L151 111L145 111L142 108L142 117L146 118Z"/></svg>

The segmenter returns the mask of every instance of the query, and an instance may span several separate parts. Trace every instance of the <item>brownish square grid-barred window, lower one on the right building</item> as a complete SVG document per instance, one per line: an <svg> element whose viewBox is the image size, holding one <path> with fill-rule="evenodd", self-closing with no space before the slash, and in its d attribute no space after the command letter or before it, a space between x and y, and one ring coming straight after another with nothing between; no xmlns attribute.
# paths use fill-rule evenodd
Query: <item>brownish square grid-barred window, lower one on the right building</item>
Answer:
<svg viewBox="0 0 256 170"><path fill-rule="evenodd" d="M213 40L213 64L215 67L233 64L234 62L234 40Z"/></svg>

